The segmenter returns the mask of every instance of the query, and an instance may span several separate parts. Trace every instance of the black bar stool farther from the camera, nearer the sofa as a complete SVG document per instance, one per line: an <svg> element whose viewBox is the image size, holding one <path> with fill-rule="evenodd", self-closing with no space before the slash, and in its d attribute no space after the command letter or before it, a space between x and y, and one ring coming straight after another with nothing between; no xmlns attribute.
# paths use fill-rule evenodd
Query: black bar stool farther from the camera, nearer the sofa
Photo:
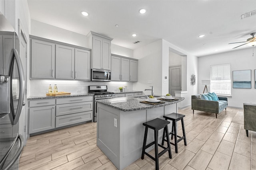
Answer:
<svg viewBox="0 0 256 170"><path fill-rule="evenodd" d="M175 146L176 153L178 153L178 142L184 140L184 145L187 146L183 117L185 117L185 115L178 114L178 113L171 113L168 115L164 115L165 120L172 121L172 131L169 133L169 135L172 135L171 139L173 139L173 136L174 136L174 143L170 142L170 144ZM181 125L182 125L182 132L183 132L182 137L177 135L176 122L179 120L181 120ZM165 131L164 131L164 133L165 133ZM164 141L166 141L168 143L168 140L164 139L165 138L164 133L163 133L163 138L162 138L162 145L164 145ZM179 137L178 140L177 140L177 137Z"/></svg>

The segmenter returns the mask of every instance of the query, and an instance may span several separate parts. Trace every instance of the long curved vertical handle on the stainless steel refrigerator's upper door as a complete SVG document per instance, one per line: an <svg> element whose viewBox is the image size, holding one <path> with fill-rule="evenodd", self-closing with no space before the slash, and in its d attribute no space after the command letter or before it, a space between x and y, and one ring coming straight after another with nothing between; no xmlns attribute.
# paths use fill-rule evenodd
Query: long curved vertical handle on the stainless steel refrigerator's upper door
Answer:
<svg viewBox="0 0 256 170"><path fill-rule="evenodd" d="M21 63L21 59L20 56L18 55L18 51L16 49L13 49L14 52L14 57L16 59L17 62L17 66L18 66L18 72L19 72L19 77L20 77L20 94L19 94L19 101L18 101L18 106L17 106L17 111L16 111L16 115L14 117L14 125L16 125L16 123L18 123L19 118L20 118L20 114L21 114L21 110L22 110L22 105L23 105L23 101L24 101L24 92L25 92L25 86L24 86L24 73L23 73L23 68L22 68L22 63Z"/></svg>

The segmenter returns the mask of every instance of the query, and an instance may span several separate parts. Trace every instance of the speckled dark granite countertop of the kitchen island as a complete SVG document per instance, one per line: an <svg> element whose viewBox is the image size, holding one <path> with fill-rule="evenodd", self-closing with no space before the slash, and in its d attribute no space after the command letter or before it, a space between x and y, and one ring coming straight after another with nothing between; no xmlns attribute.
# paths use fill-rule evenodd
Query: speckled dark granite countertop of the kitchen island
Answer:
<svg viewBox="0 0 256 170"><path fill-rule="evenodd" d="M164 103L158 104L158 105L140 103L141 101L145 100L145 98L140 98L140 97L101 99L101 100L97 100L96 102L98 102L100 104L104 104L109 107L113 107L115 109L119 109L121 111L135 111L135 110L150 109L150 108L155 108L155 107L162 107L162 106L167 106L170 104L176 104L185 99L182 97L174 97L174 98L178 99L178 100L172 101L172 102L161 100L161 102L164 102Z"/></svg>

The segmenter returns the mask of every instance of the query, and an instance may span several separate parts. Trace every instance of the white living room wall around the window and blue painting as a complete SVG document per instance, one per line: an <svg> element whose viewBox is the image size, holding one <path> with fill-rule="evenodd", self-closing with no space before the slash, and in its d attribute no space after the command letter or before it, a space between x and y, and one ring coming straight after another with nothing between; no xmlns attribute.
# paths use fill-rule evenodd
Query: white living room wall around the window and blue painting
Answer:
<svg viewBox="0 0 256 170"><path fill-rule="evenodd" d="M254 47L254 51L256 48ZM254 52L255 53L255 52ZM243 103L256 104L256 89L254 86L256 69L256 56L252 56L252 47L248 49L236 50L228 53L221 53L216 55L209 55L198 58L198 92L202 93L204 90L204 84L201 84L202 80L210 80L210 65L231 63L231 80L232 71L234 70L252 70L252 88L231 88L232 97L228 97L228 106L243 107ZM231 81L232 83L232 81ZM210 86L207 86L210 90ZM231 87L233 87L231 85Z"/></svg>

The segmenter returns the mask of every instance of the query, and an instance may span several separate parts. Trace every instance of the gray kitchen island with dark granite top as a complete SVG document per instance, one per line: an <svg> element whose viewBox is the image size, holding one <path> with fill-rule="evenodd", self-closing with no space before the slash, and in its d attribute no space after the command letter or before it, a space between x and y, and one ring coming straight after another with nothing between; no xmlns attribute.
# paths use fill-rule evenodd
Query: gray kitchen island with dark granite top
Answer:
<svg viewBox="0 0 256 170"><path fill-rule="evenodd" d="M140 103L145 100L143 97L97 100L97 146L116 168L124 169L141 156L145 129L142 123L155 118L163 119L163 115L173 112L178 113L177 103L184 98L175 99L158 105ZM159 131L158 140L162 139L162 133ZM154 131L149 129L147 141L153 140Z"/></svg>

